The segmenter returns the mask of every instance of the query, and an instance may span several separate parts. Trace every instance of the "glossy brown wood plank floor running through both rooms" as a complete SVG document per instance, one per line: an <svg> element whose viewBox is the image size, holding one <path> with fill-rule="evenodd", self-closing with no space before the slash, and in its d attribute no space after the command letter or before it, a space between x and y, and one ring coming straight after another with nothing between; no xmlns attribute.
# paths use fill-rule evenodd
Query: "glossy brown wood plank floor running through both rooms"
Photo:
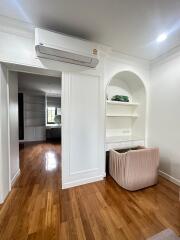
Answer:
<svg viewBox="0 0 180 240"><path fill-rule="evenodd" d="M143 240L165 228L180 234L179 189L137 192L104 181L60 190L60 145L26 145L21 175L0 209L0 240Z"/></svg>

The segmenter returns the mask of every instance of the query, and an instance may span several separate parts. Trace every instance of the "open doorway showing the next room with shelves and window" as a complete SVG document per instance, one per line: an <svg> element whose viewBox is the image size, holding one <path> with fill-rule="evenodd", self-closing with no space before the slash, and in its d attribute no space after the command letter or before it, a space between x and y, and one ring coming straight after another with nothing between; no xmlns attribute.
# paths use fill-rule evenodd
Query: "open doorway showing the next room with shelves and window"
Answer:
<svg viewBox="0 0 180 240"><path fill-rule="evenodd" d="M20 171L30 169L31 164L41 171L38 161L43 164L43 156L44 170L53 171L60 164L62 85L61 76L14 71L9 71L8 81L12 187ZM35 153L34 162L28 162L28 153L32 159Z"/></svg>

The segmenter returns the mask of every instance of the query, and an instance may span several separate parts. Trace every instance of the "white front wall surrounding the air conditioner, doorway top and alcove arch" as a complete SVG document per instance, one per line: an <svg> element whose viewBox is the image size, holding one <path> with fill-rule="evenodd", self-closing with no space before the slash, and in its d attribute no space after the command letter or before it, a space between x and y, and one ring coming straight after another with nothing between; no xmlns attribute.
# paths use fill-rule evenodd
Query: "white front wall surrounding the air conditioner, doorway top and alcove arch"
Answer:
<svg viewBox="0 0 180 240"><path fill-rule="evenodd" d="M62 87L64 91L62 93L62 98L64 98L62 99L62 108L64 110L62 119L64 124L63 187L102 179L105 174L106 85L118 72L132 71L143 80L148 89L148 63L122 54L116 55L113 53L110 56L109 52L106 51L110 49L101 48L101 46L100 64L98 64L97 69L86 70L84 67L40 60L35 54L33 31L28 32L19 29L18 26L16 28L13 28L13 26L15 26L15 21L13 21L11 27L0 26L1 62L8 63L11 70L56 74L56 76L60 76L61 71L64 72L62 79L64 84ZM78 73L76 75L72 72ZM87 93L88 97L86 101L81 99L81 95L84 96L85 93ZM92 97L93 100L91 100ZM6 107L8 106L6 105ZM72 112L70 111L71 107L73 107ZM76 110L79 114L77 114ZM98 114L96 115L97 111ZM82 117L85 117L84 123L82 123ZM4 118L7 122L6 116ZM77 124L79 123L77 129L72 129L73 120ZM95 132L94 129L97 129L97 125L99 127ZM79 134L80 132L81 134ZM80 152L81 145L83 145L82 153ZM2 143L1 147L4 147L4 143ZM78 149L78 152L76 152L76 149ZM73 156L75 152L76 154ZM88 157L86 157L86 152Z"/></svg>

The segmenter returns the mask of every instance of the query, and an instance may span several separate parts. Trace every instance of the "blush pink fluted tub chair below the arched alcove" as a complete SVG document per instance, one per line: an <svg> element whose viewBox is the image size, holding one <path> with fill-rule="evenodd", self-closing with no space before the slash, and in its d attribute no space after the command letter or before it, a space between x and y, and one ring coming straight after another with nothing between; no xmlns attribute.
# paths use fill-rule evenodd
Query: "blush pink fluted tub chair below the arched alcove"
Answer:
<svg viewBox="0 0 180 240"><path fill-rule="evenodd" d="M138 148L125 152L110 150L109 173L129 191L157 184L158 167L158 148Z"/></svg>

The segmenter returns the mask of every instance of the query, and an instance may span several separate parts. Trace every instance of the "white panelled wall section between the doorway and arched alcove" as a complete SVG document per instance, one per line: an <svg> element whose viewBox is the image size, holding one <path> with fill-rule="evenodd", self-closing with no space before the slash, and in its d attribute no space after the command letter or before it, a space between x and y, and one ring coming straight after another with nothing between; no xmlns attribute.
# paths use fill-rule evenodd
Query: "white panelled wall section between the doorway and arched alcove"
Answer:
<svg viewBox="0 0 180 240"><path fill-rule="evenodd" d="M105 176L102 81L99 76L63 75L62 187Z"/></svg>

